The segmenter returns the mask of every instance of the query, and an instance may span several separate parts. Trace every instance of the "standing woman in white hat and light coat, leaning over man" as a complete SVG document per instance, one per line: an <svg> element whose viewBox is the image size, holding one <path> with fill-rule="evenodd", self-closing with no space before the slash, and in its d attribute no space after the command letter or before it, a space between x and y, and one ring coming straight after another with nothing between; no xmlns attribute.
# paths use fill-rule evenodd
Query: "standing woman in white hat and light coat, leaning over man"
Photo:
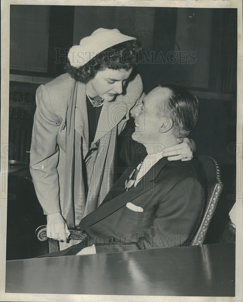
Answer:
<svg viewBox="0 0 243 302"><path fill-rule="evenodd" d="M50 238L66 241L114 184L116 137L143 97L140 55L136 38L99 28L70 49L66 74L37 89L30 170ZM181 145L167 155L190 159Z"/></svg>

